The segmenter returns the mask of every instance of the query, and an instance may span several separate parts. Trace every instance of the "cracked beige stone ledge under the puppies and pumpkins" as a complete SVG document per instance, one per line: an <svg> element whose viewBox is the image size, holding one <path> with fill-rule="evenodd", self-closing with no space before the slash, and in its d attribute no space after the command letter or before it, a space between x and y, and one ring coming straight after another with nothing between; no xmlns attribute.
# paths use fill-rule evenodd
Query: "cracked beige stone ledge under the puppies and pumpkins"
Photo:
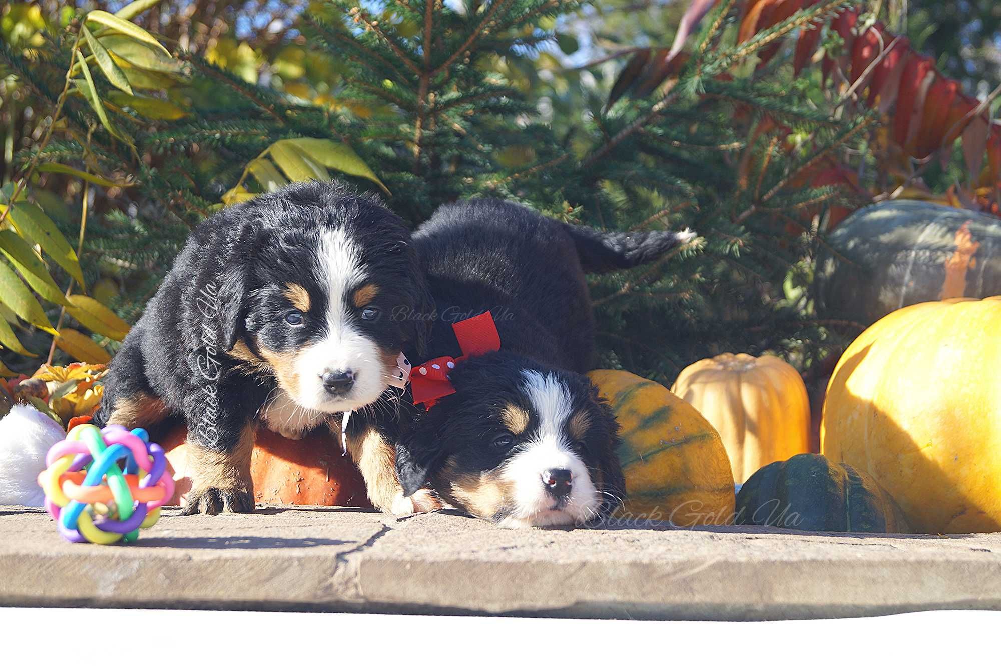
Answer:
<svg viewBox="0 0 1001 666"><path fill-rule="evenodd" d="M1001 534L758 527L500 530L453 512L261 506L70 544L0 507L0 605L651 619L1001 610Z"/></svg>

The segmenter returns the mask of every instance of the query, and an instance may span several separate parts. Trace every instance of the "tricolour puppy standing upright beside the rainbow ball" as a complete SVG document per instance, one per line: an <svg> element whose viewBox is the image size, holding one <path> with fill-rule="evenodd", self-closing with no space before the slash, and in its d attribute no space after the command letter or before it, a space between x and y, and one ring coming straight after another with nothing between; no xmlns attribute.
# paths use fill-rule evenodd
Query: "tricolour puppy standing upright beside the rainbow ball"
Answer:
<svg viewBox="0 0 1001 666"><path fill-rule="evenodd" d="M253 510L258 423L298 438L340 436L372 503L411 512L396 481L401 350L422 351L431 307L409 231L376 199L341 184L291 185L213 215L188 238L111 363L98 424L187 422L195 459L185 513ZM412 405L410 405L412 409ZM432 508L432 506L422 507Z"/></svg>

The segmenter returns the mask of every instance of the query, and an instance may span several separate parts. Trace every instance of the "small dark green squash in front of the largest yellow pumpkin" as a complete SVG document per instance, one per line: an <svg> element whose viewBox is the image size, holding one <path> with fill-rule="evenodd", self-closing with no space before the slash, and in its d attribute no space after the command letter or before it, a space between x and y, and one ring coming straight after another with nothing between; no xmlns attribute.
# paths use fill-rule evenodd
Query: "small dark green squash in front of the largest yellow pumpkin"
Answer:
<svg viewBox="0 0 1001 666"><path fill-rule="evenodd" d="M816 453L751 475L737 494L735 522L811 532L911 531L900 507L871 476Z"/></svg>

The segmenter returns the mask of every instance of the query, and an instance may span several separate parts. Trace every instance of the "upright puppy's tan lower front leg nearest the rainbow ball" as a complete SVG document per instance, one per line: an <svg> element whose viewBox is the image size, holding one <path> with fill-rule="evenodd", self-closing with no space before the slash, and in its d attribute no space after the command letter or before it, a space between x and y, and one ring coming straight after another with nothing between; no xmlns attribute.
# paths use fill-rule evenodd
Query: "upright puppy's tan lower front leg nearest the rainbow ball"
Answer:
<svg viewBox="0 0 1001 666"><path fill-rule="evenodd" d="M184 515L204 512L214 516L221 511L253 511L250 453L255 439L256 426L252 422L225 434L188 424L188 455L193 478L184 503Z"/></svg>

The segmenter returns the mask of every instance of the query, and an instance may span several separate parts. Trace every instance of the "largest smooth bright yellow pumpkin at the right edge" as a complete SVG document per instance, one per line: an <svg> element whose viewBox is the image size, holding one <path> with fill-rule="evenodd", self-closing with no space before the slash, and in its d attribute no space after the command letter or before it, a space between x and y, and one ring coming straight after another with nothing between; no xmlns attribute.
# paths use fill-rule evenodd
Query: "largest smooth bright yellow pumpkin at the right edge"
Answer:
<svg viewBox="0 0 1001 666"><path fill-rule="evenodd" d="M875 477L919 532L1001 531L1001 297L873 324L831 377L821 448Z"/></svg>

